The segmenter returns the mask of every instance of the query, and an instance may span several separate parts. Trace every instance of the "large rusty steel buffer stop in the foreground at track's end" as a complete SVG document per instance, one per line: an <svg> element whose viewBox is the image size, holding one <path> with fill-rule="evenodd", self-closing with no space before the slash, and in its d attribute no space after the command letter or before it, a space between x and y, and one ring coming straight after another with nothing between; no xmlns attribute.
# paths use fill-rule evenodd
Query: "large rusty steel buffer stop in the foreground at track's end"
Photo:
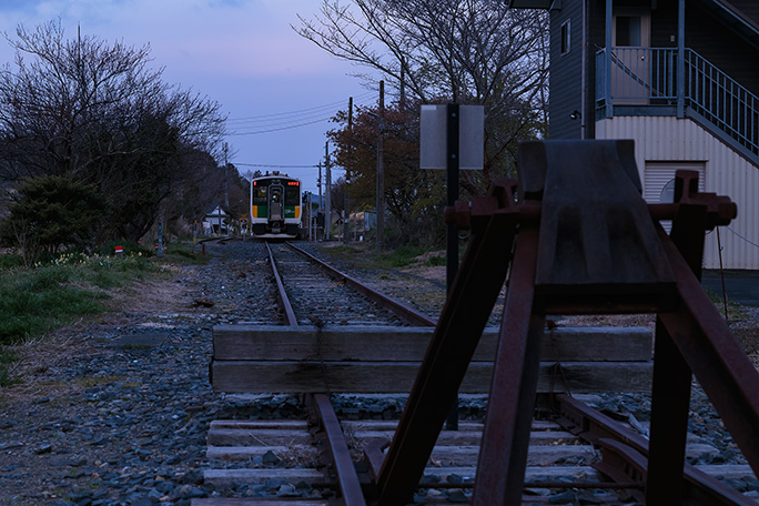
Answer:
<svg viewBox="0 0 759 506"><path fill-rule="evenodd" d="M506 269L473 504L520 504L547 314L657 313L650 463L647 444L625 451L635 437L607 444L605 459L620 479L645 476L647 504L695 499L694 487L682 485L689 473L709 490L719 488L684 464L691 371L759 470L759 374L698 282L704 233L729 223L736 206L726 196L699 194L697 175L682 171L675 204L647 206L632 153L630 141L525 143L520 202L502 183L468 209L456 204L446 212L446 221L468 226L472 239L376 478L378 505L411 499L445 418L438 406L447 406L461 384ZM674 221L671 236L657 222L664 217ZM625 474L630 463L639 469L634 476ZM649 465L655 470L644 473ZM716 497L696 504L737 504Z"/></svg>

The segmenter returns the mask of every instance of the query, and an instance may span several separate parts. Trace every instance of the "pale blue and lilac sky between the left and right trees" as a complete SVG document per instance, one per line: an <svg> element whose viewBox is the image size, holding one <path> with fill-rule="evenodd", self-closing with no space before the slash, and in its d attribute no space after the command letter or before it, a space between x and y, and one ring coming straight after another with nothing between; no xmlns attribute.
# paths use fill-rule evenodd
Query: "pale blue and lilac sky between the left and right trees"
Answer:
<svg viewBox="0 0 759 506"><path fill-rule="evenodd" d="M352 77L364 68L335 59L291 28L312 19L320 0L0 0L0 31L61 19L68 38L94 36L135 48L149 43L164 82L219 102L229 114L230 161L315 165L324 158L326 121L348 98L376 103L378 93ZM13 51L0 39L0 63ZM295 125L311 123L304 126ZM252 133L266 132L266 133ZM315 168L271 168L316 191ZM335 171L333 179L342 175Z"/></svg>

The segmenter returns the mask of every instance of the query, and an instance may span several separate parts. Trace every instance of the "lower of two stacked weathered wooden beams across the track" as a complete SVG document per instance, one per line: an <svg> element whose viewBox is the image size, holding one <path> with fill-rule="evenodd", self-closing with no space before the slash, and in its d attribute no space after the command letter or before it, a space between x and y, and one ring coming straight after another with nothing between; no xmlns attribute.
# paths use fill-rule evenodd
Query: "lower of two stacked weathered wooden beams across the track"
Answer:
<svg viewBox="0 0 759 506"><path fill-rule="evenodd" d="M253 362L214 361L212 385L217 392L411 392L419 364L413 362ZM560 370L542 363L538 393L649 392L648 362L568 362ZM469 364L459 392L488 392L492 365Z"/></svg>

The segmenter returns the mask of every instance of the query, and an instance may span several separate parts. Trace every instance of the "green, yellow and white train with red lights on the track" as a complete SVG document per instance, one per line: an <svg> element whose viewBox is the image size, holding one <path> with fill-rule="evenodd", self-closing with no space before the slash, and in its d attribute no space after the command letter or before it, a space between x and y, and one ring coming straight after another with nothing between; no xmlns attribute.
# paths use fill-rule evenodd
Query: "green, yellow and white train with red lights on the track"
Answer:
<svg viewBox="0 0 759 506"><path fill-rule="evenodd" d="M251 180L251 232L264 239L298 239L303 227L301 181L274 171Z"/></svg>

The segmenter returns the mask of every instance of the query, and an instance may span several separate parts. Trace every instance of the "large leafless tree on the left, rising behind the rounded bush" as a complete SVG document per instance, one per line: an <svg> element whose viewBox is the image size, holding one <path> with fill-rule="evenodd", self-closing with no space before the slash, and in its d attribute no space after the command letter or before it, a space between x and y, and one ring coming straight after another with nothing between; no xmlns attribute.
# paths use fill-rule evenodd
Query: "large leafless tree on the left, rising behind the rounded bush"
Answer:
<svg viewBox="0 0 759 506"><path fill-rule="evenodd" d="M220 105L165 84L148 45L70 40L60 21L4 37L17 57L0 71L0 181L94 184L110 204L100 241L144 234L195 153L219 154Z"/></svg>

